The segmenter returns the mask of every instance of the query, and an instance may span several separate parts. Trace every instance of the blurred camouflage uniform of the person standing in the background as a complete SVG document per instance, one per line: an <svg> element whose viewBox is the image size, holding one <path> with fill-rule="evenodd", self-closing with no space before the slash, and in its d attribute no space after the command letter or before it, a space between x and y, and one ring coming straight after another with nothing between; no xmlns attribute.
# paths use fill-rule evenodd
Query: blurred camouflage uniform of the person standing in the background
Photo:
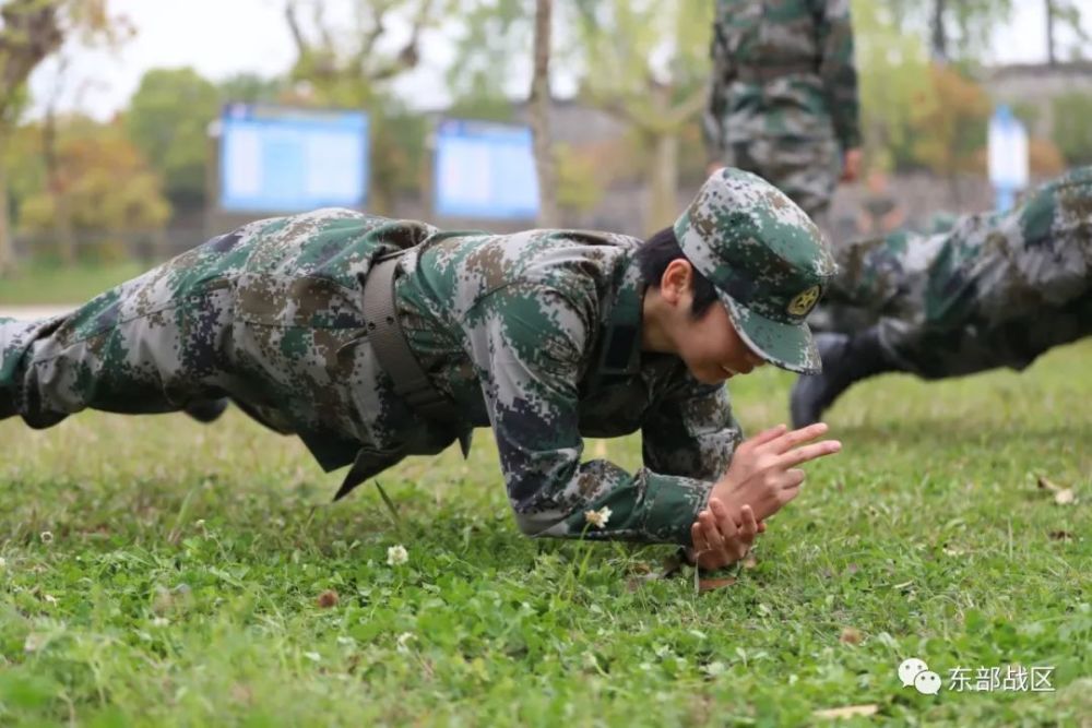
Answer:
<svg viewBox="0 0 1092 728"><path fill-rule="evenodd" d="M860 146L848 0L716 0L710 158L764 177L820 224Z"/></svg>

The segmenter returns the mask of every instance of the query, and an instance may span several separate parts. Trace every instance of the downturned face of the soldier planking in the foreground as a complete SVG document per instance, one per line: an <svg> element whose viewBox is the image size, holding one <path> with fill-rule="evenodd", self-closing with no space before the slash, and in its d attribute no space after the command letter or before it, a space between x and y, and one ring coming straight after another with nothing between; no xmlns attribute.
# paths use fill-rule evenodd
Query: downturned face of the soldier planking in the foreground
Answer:
<svg viewBox="0 0 1092 728"><path fill-rule="evenodd" d="M680 322L675 343L678 356L703 384L721 384L765 363L739 337L720 301L710 306L701 318Z"/></svg>

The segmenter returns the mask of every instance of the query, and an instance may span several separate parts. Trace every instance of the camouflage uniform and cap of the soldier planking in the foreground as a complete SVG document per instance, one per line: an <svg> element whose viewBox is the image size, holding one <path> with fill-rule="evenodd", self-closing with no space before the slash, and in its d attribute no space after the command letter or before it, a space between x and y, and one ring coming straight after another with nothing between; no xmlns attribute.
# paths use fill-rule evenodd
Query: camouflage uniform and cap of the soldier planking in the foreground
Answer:
<svg viewBox="0 0 1092 728"><path fill-rule="evenodd" d="M734 286L722 298L779 363L809 370L817 359L807 307L770 319L761 307L826 282L832 267L818 232L757 178L715 177L677 225L684 249ZM735 213L740 260L778 273L764 288L729 281L710 254L703 236L725 237L723 205ZM761 258L764 243L745 237L756 231L806 248L799 271L786 253ZM86 407L158 413L228 395L298 434L327 470L352 464L346 487L491 427L523 532L687 544L740 432L723 386L699 383L677 357L641 351L639 244L569 230L442 232L346 210L260 220L71 314L0 322L0 418L48 427ZM461 421L425 419L396 395L366 335L363 282L400 249L408 250L399 260L397 315ZM636 474L581 462L582 437L637 430L644 467ZM606 526L587 529L585 511L604 506Z"/></svg>

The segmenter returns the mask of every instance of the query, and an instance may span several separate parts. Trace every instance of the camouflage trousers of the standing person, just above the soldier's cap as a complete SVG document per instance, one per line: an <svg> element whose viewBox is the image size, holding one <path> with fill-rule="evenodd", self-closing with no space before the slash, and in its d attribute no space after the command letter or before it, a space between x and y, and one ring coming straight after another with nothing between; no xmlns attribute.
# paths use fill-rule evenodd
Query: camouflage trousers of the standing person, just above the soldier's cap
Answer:
<svg viewBox="0 0 1092 728"><path fill-rule="evenodd" d="M764 178L828 232L830 201L841 175L838 143L795 136L755 139L731 145L734 167ZM829 236L828 236L829 237Z"/></svg>

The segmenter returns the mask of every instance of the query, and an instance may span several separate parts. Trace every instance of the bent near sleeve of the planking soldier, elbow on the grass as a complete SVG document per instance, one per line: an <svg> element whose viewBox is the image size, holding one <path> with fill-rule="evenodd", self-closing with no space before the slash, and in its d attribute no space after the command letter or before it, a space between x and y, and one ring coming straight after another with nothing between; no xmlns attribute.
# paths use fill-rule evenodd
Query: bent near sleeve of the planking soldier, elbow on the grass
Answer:
<svg viewBox="0 0 1092 728"><path fill-rule="evenodd" d="M571 301L515 284L478 301L466 321L517 523L531 536L689 544L711 482L581 462L577 383L595 322ZM605 524L589 523L587 511L605 508Z"/></svg>

